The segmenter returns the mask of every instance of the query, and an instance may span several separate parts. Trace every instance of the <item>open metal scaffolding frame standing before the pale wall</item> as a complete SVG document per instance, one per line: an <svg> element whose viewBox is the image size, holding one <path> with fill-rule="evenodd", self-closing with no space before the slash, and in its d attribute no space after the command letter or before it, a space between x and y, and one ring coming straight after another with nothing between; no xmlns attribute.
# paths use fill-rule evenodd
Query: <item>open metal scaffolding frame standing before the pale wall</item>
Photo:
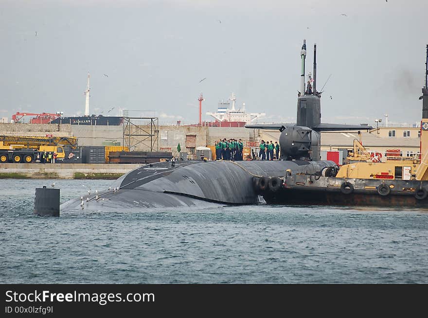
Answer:
<svg viewBox="0 0 428 318"><path fill-rule="evenodd" d="M124 146L127 145L131 151L138 145L143 151L158 151L158 117L129 117L128 110L124 110L123 120L122 144Z"/></svg>

